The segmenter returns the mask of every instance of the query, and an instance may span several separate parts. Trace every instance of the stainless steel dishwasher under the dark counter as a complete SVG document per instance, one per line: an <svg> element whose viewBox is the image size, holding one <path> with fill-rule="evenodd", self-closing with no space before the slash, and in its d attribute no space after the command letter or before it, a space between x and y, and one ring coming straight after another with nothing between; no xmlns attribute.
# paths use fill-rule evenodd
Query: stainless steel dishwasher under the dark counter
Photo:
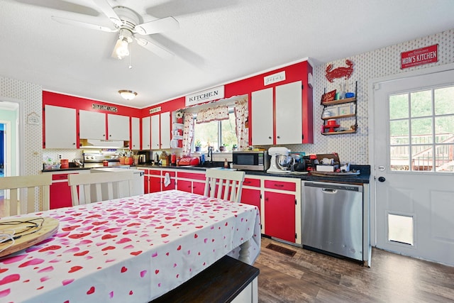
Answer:
<svg viewBox="0 0 454 303"><path fill-rule="evenodd" d="M302 182L304 248L362 260L362 186Z"/></svg>

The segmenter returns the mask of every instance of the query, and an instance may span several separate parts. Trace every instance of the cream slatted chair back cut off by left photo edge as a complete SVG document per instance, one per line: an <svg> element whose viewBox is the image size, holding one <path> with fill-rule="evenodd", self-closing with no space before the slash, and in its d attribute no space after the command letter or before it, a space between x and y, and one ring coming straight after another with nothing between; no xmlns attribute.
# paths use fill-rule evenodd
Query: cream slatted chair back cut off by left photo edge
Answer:
<svg viewBox="0 0 454 303"><path fill-rule="evenodd" d="M9 189L9 199L5 199L5 216L48 210L51 183L52 175L50 174L1 177L0 189ZM26 193L26 197L20 197L21 189L24 189L23 193ZM41 206L38 209L35 209L35 190L38 190L41 195ZM7 197L6 194L5 197ZM26 203L21 204L19 199Z"/></svg>

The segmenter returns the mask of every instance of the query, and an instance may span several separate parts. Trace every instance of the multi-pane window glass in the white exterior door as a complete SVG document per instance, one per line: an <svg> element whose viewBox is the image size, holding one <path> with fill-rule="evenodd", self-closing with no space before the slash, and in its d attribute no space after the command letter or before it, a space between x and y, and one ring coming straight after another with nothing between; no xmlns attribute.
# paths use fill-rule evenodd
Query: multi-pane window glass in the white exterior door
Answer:
<svg viewBox="0 0 454 303"><path fill-rule="evenodd" d="M454 171L454 86L389 96L390 170Z"/></svg>

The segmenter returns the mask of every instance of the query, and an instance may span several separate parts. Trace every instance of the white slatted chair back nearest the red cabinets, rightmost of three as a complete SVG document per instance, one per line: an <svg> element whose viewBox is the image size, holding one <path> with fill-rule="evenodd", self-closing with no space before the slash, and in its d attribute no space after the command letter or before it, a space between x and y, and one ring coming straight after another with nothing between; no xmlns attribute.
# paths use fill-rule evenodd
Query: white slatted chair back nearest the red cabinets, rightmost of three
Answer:
<svg viewBox="0 0 454 303"><path fill-rule="evenodd" d="M206 170L204 196L240 202L245 172L238 170Z"/></svg>

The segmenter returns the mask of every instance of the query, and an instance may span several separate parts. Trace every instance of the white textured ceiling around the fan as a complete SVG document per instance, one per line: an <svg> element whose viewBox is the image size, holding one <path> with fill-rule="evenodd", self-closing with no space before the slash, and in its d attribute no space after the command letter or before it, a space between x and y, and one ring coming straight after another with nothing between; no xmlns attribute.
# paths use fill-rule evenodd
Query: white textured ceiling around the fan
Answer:
<svg viewBox="0 0 454 303"><path fill-rule="evenodd" d="M117 33L91 0L1 0L0 76L43 89L143 108L311 57L316 65L454 28L453 0L107 0L143 22L173 16L179 30L148 35L175 54L138 44L111 57ZM128 68L128 65L132 68ZM138 92L124 101L118 89Z"/></svg>

